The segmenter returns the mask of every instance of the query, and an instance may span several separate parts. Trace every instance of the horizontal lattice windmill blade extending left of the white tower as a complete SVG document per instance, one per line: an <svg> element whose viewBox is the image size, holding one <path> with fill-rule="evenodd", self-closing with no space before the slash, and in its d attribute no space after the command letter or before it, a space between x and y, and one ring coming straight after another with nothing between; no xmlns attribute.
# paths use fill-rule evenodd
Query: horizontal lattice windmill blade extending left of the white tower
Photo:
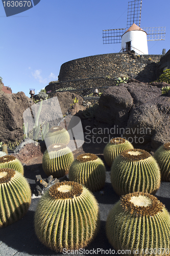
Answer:
<svg viewBox="0 0 170 256"><path fill-rule="evenodd" d="M122 41L122 34L126 29L103 30L103 44L119 44Z"/></svg>

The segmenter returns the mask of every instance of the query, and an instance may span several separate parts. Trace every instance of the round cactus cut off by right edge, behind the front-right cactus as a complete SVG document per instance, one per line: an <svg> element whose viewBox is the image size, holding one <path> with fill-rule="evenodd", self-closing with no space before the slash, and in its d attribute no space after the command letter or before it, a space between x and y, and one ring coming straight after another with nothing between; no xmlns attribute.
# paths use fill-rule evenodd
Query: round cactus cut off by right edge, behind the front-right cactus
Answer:
<svg viewBox="0 0 170 256"><path fill-rule="evenodd" d="M160 146L154 154L161 172L162 181L170 181L170 142Z"/></svg>

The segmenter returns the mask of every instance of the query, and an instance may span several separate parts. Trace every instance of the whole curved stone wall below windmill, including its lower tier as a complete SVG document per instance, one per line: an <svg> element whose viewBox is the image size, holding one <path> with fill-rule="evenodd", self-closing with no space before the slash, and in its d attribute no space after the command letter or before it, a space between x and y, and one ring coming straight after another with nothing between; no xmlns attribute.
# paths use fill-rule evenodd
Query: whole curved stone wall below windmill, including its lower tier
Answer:
<svg viewBox="0 0 170 256"><path fill-rule="evenodd" d="M134 55L128 53L109 53L74 59L62 64L59 81L51 82L46 91L75 89L86 95L90 88L104 91L116 84L120 76L133 77L139 81L151 82L157 79L157 62L162 55ZM87 90L85 90L87 89Z"/></svg>

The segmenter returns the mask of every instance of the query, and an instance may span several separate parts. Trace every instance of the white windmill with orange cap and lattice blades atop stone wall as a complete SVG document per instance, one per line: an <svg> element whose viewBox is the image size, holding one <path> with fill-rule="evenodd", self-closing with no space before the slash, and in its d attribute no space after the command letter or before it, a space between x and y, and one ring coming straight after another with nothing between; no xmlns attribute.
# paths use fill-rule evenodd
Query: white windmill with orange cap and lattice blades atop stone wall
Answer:
<svg viewBox="0 0 170 256"><path fill-rule="evenodd" d="M165 27L140 28L142 0L128 2L127 29L103 30L103 44L122 43L120 52L148 54L147 41L165 40Z"/></svg>

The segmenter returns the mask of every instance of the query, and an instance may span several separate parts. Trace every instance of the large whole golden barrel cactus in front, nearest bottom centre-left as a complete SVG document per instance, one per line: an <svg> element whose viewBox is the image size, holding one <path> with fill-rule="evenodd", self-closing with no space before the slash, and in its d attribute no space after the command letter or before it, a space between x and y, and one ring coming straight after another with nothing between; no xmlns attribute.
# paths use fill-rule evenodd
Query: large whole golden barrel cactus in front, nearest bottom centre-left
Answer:
<svg viewBox="0 0 170 256"><path fill-rule="evenodd" d="M47 247L62 252L87 246L99 230L99 206L92 193L77 182L47 189L35 212L35 231Z"/></svg>

